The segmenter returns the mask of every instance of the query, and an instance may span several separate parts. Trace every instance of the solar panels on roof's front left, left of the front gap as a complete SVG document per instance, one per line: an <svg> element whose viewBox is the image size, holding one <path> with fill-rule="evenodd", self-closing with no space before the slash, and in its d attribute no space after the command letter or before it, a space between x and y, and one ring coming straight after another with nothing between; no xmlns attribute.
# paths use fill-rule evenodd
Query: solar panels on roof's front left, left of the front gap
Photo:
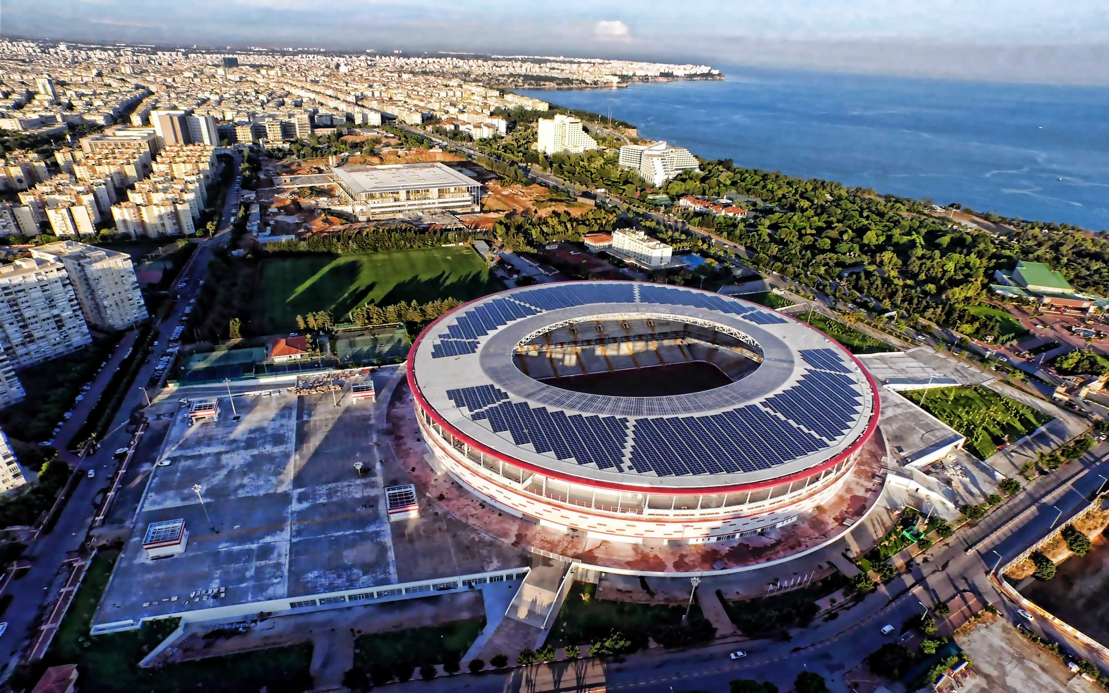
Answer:
<svg viewBox="0 0 1109 693"><path fill-rule="evenodd" d="M527 402L505 401L508 396L489 385L447 393L455 406L465 406L470 419L486 420L496 434L508 432L515 445L531 444L536 452L553 452L560 460L598 469L619 467L628 440L628 419L614 416L567 415L531 407Z"/></svg>

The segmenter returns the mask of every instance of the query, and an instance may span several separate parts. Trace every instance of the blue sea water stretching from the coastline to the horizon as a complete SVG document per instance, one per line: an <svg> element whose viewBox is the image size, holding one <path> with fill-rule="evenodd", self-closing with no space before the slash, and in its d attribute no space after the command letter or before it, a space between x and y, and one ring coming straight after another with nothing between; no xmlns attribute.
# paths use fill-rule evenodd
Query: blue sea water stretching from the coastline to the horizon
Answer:
<svg viewBox="0 0 1109 693"><path fill-rule="evenodd" d="M526 90L709 159L1109 228L1109 89L724 68L713 82Z"/></svg>

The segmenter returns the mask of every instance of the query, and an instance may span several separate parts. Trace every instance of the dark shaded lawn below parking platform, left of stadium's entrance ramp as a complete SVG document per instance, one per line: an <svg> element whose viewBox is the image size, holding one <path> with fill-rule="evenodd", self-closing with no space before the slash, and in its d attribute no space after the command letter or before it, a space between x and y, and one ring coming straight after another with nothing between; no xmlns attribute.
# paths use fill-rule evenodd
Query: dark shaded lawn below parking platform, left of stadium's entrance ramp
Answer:
<svg viewBox="0 0 1109 693"><path fill-rule="evenodd" d="M354 644L354 663L365 670L374 664L397 662L409 662L417 666L425 663L442 664L447 652L455 652L459 658L466 654L470 644L481 634L482 628L485 619L468 619L442 625L359 635Z"/></svg>

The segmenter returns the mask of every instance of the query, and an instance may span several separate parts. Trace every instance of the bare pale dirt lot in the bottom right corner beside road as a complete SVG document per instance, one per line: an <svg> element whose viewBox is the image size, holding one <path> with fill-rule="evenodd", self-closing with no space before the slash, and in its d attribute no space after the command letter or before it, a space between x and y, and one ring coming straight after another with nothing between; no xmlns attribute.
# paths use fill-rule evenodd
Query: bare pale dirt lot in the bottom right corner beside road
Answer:
<svg viewBox="0 0 1109 693"><path fill-rule="evenodd" d="M1071 674L1054 654L1025 640L1008 621L984 622L955 640L974 662L986 691L1093 693L1098 690Z"/></svg>

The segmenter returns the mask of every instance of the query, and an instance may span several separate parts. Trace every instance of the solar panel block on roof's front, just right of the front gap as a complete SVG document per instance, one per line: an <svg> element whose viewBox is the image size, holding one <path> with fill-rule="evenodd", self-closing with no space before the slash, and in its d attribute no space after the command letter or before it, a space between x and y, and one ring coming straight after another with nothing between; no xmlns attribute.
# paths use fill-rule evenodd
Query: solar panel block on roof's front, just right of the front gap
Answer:
<svg viewBox="0 0 1109 693"><path fill-rule="evenodd" d="M660 477L757 471L828 447L755 405L634 422L631 465Z"/></svg>

